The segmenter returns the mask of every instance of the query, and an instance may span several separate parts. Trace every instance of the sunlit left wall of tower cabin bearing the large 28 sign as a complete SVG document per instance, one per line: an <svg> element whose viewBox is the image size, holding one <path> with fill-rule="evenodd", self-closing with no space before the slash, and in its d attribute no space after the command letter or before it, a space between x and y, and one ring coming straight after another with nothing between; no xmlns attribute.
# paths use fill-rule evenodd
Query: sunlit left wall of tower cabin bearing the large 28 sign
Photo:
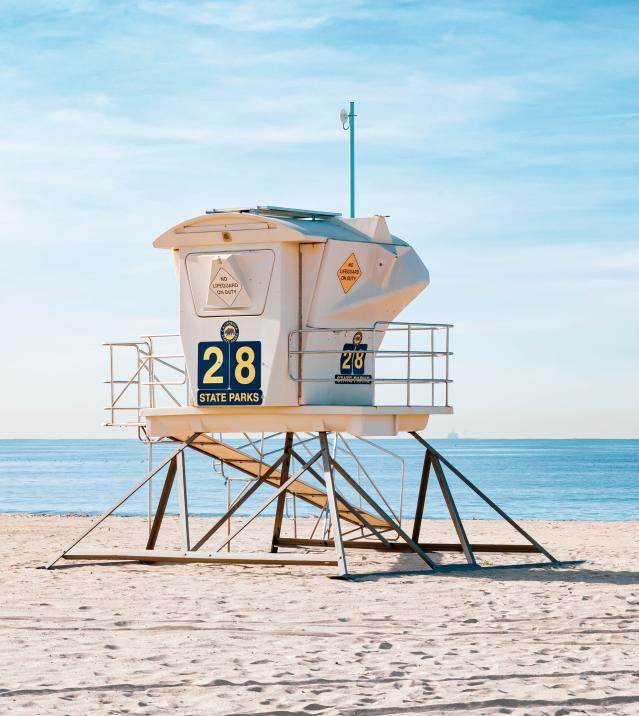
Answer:
<svg viewBox="0 0 639 716"><path fill-rule="evenodd" d="M298 325L298 246L180 249L180 334L191 403L297 405L288 334Z"/></svg>

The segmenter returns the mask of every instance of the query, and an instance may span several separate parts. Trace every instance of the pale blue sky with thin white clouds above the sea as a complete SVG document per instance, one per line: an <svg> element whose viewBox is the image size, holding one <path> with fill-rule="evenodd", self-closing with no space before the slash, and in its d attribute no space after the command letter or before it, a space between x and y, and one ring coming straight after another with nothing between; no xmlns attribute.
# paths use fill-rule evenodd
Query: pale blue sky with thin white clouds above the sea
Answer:
<svg viewBox="0 0 639 716"><path fill-rule="evenodd" d="M105 340L177 329L153 239L389 215L453 323L432 436L639 437L639 3L0 0L0 437L101 427Z"/></svg>

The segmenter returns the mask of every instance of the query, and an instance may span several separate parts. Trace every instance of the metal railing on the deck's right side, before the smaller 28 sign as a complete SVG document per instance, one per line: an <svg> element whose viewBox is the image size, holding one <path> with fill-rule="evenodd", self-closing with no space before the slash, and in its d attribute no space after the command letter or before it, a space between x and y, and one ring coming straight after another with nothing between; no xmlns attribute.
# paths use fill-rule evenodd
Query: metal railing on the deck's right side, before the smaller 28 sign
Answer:
<svg viewBox="0 0 639 716"><path fill-rule="evenodd" d="M372 356L370 374L364 376L362 383L372 384L377 388L381 385L404 385L405 405L436 405L449 406L448 386L450 379L450 329L447 323L412 323L400 321L376 321L372 327L351 328L302 328L289 333L289 378L297 383L335 383L335 363L319 367L323 374L304 375L305 357L309 356L342 356L344 348L305 347L314 337L322 334L343 336L348 339L360 332L368 346L366 350L357 351L361 355ZM369 339L370 336L370 339ZM420 340L421 339L421 340ZM391 347L381 348L382 341ZM344 340L348 343L348 340ZM397 347L397 343L403 344ZM421 345L420 345L421 343ZM421 360L420 360L421 359ZM391 361L395 364L392 370L385 369L378 361ZM402 365L397 370L397 361ZM417 366L416 366L417 362ZM308 363L308 361L307 361ZM317 370L317 362L312 370ZM398 374L399 373L399 374ZM357 382L357 381L352 381ZM413 400L415 386L429 386L430 402L415 403ZM436 386L443 387L443 396L438 396ZM377 391L376 391L377 392ZM393 392L396 396L396 391ZM411 394L412 393L412 394ZM428 395L426 396L428 398ZM439 398L439 399L438 399ZM374 401L377 403L377 399ZM397 405L397 401L394 403Z"/></svg>

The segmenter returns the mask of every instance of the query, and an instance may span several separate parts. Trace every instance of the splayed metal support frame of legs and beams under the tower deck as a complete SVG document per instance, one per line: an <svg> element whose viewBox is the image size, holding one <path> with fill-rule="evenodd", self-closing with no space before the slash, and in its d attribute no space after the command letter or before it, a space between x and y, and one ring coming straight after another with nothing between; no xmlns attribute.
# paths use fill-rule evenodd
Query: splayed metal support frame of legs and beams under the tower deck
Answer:
<svg viewBox="0 0 639 716"><path fill-rule="evenodd" d="M206 435L196 433L191 435L187 440L180 442L179 447L171 453L166 459L160 462L156 467L149 470L147 475L138 482L131 490L129 490L122 498L111 505L99 518L94 520L92 524L82 532L68 547L52 559L46 566L53 567L59 560L140 560L143 562L204 562L211 564L313 564L328 565L337 567L339 577L348 578L346 561L346 549L360 550L379 550L385 552L413 552L419 556L429 567L428 571L450 571L466 569L479 569L479 565L475 558L475 553L516 553L516 554L543 554L553 566L559 566L560 563L546 549L544 549L531 535L528 534L519 524L517 524L504 510L498 507L487 495L485 495L476 485L466 478L457 468L455 468L446 458L441 455L435 448L426 442L420 435L413 432L411 435L425 448L424 464L422 468L421 482L419 494L417 497L417 505L415 511L415 522L412 530L412 537L409 536L402 528L401 523L389 514L387 510L378 503L370 492L362 487L347 470L337 461L337 451L332 454L328 443L327 432L318 434L319 450L311 453L310 457L303 458L295 450L295 435L287 432L284 438L284 446L282 454L270 466L263 463L263 446L260 451L260 465L264 465L265 470L261 468L257 474L251 474L247 471L246 461L243 465L238 465L238 458L227 458L229 464L236 467L245 474L250 474L254 480L253 483L239 494L236 499L227 506L225 514L218 518L213 526L191 546L189 510L187 496L187 479L185 467L185 450L193 449L197 452L204 452L203 446L210 444L202 442L208 440ZM198 440L198 438L201 438ZM337 446L337 443L335 443ZM306 446L304 446L306 448ZM236 451L237 452L237 451ZM309 451L310 453L310 451ZM315 469L314 464L321 459L321 470ZM300 467L294 474L291 474L291 461L296 460ZM220 458L222 463L224 459ZM241 461L240 461L241 462ZM505 544L483 544L470 542L462 519L460 517L457 505L453 498L446 474L446 467L453 475L459 478L464 484L473 490L484 502L490 505L502 518L504 518L515 530L517 530L526 540L527 544L505 545ZM155 514L149 526L149 533L146 544L143 548L133 550L120 549L83 549L78 547L80 542L84 540L93 530L98 527L107 517L113 514L126 500L146 485L155 475L167 468L164 478L163 487L158 498ZM276 470L280 468L279 474ZM431 470L437 477L440 489L444 496L450 518L455 527L459 543L439 543L420 541L420 532L426 501L426 493L428 489L429 476ZM313 504L320 510L315 527L309 538L301 538L294 532L293 537L282 536L282 526L285 517L285 501L287 492L291 490L294 483L305 473L312 475L321 488L317 488L317 497L323 500L315 501ZM345 494L337 487L337 477L355 492L360 499L371 508L371 512L365 512L361 507L357 508L352 504L352 500L347 499ZM177 478L177 480L176 480ZM179 498L179 525L180 525L180 549L167 551L156 550L156 544L160 533L160 528L165 517L166 508L169 502L171 491L177 482L178 498ZM270 484L275 487L275 491L242 523L231 531L230 519L237 510L245 504L245 502L253 495L261 486ZM307 483L304 483L307 485ZM258 516L277 500L275 511L275 519L273 524L273 534L271 538L270 552L222 552L225 547L230 550L230 543L235 539L246 527L248 527ZM360 502L361 505L361 502ZM322 539L314 538L315 531L322 515L325 515L330 524L330 533L327 531ZM342 520L348 520L355 524L355 527L346 533L342 531ZM212 551L202 551L201 547L224 525L228 522L229 530L226 538L217 545ZM373 522L375 524L373 524ZM353 532L361 530L361 535L347 538L346 535L352 535ZM389 538L386 535L389 532L397 533L397 539ZM280 552L280 548L329 548L334 549L334 555L330 554L300 554L292 552ZM428 552L458 552L462 553L466 558L466 565L441 565L435 563L429 556ZM492 565L491 565L492 566ZM511 565L527 567L531 565ZM536 565L539 566L539 565Z"/></svg>

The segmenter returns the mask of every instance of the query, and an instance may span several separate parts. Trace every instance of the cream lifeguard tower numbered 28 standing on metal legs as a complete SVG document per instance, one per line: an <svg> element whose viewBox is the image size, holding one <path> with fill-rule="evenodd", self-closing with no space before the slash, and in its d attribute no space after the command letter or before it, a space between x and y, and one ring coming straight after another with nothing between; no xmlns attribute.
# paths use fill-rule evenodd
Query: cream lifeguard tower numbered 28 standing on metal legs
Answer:
<svg viewBox="0 0 639 716"><path fill-rule="evenodd" d="M453 411L451 326L395 321L428 286L429 274L417 253L390 233L383 216L347 219L273 206L215 210L180 222L153 245L170 252L174 262L179 335L107 344L107 424L133 426L150 448L172 442L175 450L156 465L151 459L149 472L48 567L62 559L319 564L336 567L344 577L349 549L410 551L428 569L442 568L431 554L442 551L463 553L471 568L479 566L475 555L482 551L540 553L557 562L419 434L431 415ZM176 339L181 350L160 348ZM133 356L129 375L118 371L122 353ZM126 402L131 394L133 402ZM374 476L364 471L369 482L362 481L340 458L347 454L359 472L361 464L345 436L373 445L369 437L399 432L412 435L424 449L410 527L404 526L403 508L398 515ZM251 437L256 433L258 438ZM245 444L234 442L237 435L245 436ZM270 450L273 444L280 447ZM229 493L223 514L197 536L189 522L185 465L185 455L193 451L245 481L233 500ZM444 468L506 519L526 544L471 544ZM421 538L431 472L458 543ZM162 489L153 496L150 485L160 475ZM175 482L181 548L160 550L156 543ZM145 486L145 544L134 550L83 549L84 538ZM258 490L264 501L231 531L233 515ZM291 498L317 515L309 536L297 530L292 537L282 535ZM265 550L228 551L273 503Z"/></svg>

